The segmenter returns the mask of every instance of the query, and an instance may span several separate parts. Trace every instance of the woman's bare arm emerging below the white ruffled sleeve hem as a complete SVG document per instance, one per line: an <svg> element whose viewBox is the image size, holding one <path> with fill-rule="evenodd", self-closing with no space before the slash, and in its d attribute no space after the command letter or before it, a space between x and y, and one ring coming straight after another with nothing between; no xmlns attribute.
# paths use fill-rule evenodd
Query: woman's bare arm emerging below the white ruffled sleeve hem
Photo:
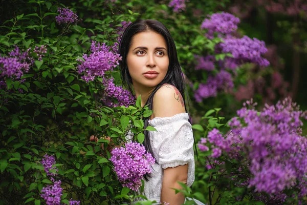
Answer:
<svg viewBox="0 0 307 205"><path fill-rule="evenodd" d="M184 203L184 195L181 192L176 194L176 191L173 190L173 188L182 189L178 181L187 183L187 172L188 165L164 169L161 202L167 202L169 205L180 205Z"/></svg>

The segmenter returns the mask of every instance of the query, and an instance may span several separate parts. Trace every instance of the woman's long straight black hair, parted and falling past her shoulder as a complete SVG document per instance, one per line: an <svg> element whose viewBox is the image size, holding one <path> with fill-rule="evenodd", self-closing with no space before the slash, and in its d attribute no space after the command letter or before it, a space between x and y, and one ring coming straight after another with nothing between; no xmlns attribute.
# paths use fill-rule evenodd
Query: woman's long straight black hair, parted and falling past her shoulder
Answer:
<svg viewBox="0 0 307 205"><path fill-rule="evenodd" d="M120 72L121 72L121 78L123 84L126 86L126 88L134 94L132 79L128 71L127 66L127 54L129 51L129 48L131 46L131 40L133 36L137 33L145 32L145 31L153 31L156 33L161 34L167 44L167 53L169 58L169 66L167 73L164 77L164 79L161 81L160 84L157 85L157 87L152 91L152 93L149 95L146 104L148 105L149 109L152 110L152 100L153 96L155 96L156 92L161 88L163 84L170 84L174 87L176 87L179 92L181 93L183 100L184 100L184 106L185 110L188 112L188 106L186 104L186 101L188 99L185 99L186 96L186 87L184 83L183 73L181 71L181 67L179 64L178 56L177 56L177 49L174 43L173 38L171 37L169 31L167 28L158 20L143 20L139 19L135 22L131 23L124 31L120 44L119 44L119 54L122 56L122 60L120 61ZM148 119L149 117L145 118L144 120L144 128L148 126ZM189 119L190 121L190 119ZM152 155L152 149L150 145L150 139L149 139L149 132L145 131L145 139L144 139L144 146L147 149L147 151ZM157 160L156 160L157 162ZM145 175L145 179L147 180L147 177L149 175Z"/></svg>

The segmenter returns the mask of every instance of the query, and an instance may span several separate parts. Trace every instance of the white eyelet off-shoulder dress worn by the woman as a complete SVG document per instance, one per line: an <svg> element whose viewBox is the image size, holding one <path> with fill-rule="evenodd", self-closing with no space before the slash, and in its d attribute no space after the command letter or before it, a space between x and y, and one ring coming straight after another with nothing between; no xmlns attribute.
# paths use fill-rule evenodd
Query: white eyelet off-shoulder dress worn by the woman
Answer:
<svg viewBox="0 0 307 205"><path fill-rule="evenodd" d="M188 113L180 113L171 117L155 117L148 120L148 124L158 131L149 133L151 148L158 161L158 164L152 165L149 180L144 180L144 193L142 194L149 200L161 203L163 169L188 164L187 186L190 187L194 181L194 139L192 126L188 119ZM195 202L203 204L198 200Z"/></svg>

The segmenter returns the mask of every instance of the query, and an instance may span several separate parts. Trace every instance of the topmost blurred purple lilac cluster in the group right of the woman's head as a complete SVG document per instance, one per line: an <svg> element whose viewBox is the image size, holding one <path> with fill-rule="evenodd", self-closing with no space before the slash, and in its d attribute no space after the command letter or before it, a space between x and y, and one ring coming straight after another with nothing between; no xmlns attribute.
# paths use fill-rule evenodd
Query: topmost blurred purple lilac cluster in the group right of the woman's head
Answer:
<svg viewBox="0 0 307 205"><path fill-rule="evenodd" d="M230 35L238 28L240 19L226 12L213 13L208 15L208 18L202 23L201 29L207 29L206 36L209 39L214 37L214 33Z"/></svg>

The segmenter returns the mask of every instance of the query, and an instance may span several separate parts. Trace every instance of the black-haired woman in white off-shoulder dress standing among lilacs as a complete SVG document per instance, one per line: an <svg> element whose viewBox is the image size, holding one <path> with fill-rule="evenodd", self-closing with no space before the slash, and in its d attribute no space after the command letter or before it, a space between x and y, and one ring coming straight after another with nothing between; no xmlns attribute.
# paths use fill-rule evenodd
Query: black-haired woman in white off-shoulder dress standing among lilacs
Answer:
<svg viewBox="0 0 307 205"><path fill-rule="evenodd" d="M185 84L174 41L157 20L136 20L124 31L119 45L123 84L141 95L142 106L153 114L145 127L144 146L156 158L150 176L145 176L144 194L150 200L183 204L177 181L191 186L194 181L193 133L186 112ZM202 204L198 201L199 204Z"/></svg>

